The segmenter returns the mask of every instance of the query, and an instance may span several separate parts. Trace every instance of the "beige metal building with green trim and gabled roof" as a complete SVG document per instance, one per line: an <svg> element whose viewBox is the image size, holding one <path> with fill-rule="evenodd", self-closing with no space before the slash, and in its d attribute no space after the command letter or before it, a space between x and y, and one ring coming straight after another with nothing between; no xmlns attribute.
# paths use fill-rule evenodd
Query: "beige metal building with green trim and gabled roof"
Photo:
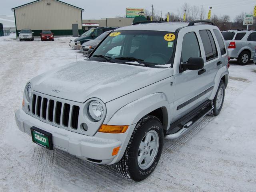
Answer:
<svg viewBox="0 0 256 192"><path fill-rule="evenodd" d="M30 28L34 36L43 29L50 29L54 36L78 36L82 34L82 12L84 9L60 0L36 0L12 8L16 35L23 28Z"/></svg>

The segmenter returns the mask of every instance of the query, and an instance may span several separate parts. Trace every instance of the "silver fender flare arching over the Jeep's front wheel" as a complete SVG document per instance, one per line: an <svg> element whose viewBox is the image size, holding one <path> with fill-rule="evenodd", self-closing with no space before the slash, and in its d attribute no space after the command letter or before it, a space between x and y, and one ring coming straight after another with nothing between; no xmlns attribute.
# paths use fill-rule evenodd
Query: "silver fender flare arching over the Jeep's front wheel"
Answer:
<svg viewBox="0 0 256 192"><path fill-rule="evenodd" d="M146 114L162 108L164 127L169 126L170 106L164 93L154 93L139 98L120 108L109 120L110 125L136 124Z"/></svg>

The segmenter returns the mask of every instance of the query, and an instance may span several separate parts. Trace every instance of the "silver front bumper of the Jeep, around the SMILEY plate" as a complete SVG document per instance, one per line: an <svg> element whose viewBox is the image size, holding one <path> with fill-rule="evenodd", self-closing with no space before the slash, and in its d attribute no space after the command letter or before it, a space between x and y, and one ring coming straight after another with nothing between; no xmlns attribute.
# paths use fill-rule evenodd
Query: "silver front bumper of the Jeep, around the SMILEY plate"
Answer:
<svg viewBox="0 0 256 192"><path fill-rule="evenodd" d="M129 126L129 131L127 130L123 134L97 132L95 136L86 136L42 122L26 114L22 109L15 113L15 120L20 131L31 136L30 128L35 126L50 132L52 133L54 148L97 164L114 164L118 162L122 158L130 140L130 135L136 126L135 124ZM113 149L118 146L120 146L118 154L112 156Z"/></svg>

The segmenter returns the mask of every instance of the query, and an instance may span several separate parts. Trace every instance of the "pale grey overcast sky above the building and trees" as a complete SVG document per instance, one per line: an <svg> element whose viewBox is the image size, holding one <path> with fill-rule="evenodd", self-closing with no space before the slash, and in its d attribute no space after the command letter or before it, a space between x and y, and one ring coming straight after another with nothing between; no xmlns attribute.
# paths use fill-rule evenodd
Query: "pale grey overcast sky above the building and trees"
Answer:
<svg viewBox="0 0 256 192"><path fill-rule="evenodd" d="M12 15L11 8L32 2L33 0L1 0L0 15ZM256 5L256 0L62 0L63 2L78 6L84 9L83 19L111 18L125 16L125 8L145 8L154 10L163 16L169 11L178 13L180 6L187 2L191 5L201 6L208 12L212 6L212 14L228 14L231 19L241 12L250 13Z"/></svg>

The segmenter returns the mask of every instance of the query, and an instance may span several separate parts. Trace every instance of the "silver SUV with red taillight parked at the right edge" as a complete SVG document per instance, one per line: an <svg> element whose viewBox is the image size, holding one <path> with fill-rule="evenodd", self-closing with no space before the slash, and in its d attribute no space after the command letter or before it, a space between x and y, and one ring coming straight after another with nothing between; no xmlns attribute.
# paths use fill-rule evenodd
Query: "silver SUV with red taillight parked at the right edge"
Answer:
<svg viewBox="0 0 256 192"><path fill-rule="evenodd" d="M256 46L256 31L227 30L222 35L228 47L231 59L237 59L240 65L246 65L253 58Z"/></svg>

